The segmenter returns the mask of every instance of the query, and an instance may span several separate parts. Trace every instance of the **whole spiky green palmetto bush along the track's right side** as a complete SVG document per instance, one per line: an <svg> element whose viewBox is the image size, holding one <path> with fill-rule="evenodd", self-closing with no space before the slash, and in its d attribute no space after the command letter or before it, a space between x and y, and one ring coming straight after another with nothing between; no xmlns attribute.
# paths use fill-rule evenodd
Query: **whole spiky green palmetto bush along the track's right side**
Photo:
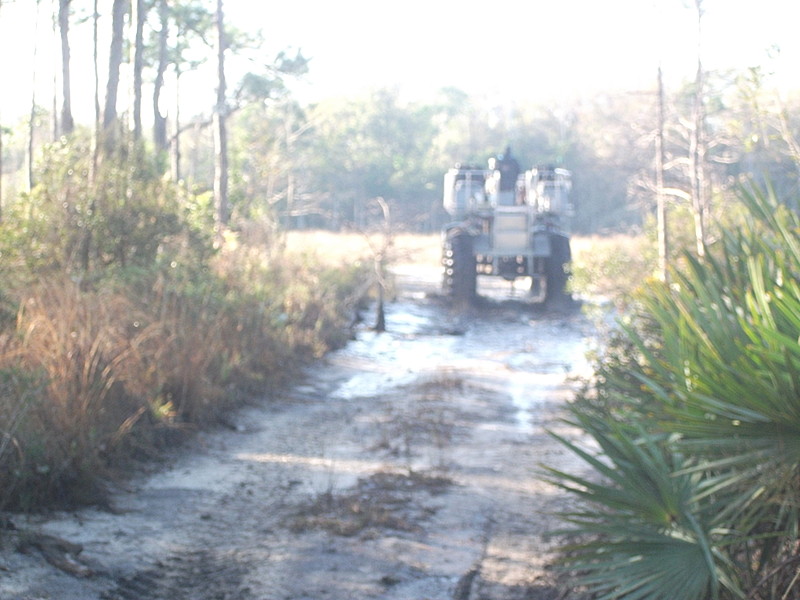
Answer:
<svg viewBox="0 0 800 600"><path fill-rule="evenodd" d="M800 598L800 216L742 192L746 218L637 313L559 438L589 474L563 560L604 599ZM594 446L598 450L587 448Z"/></svg>

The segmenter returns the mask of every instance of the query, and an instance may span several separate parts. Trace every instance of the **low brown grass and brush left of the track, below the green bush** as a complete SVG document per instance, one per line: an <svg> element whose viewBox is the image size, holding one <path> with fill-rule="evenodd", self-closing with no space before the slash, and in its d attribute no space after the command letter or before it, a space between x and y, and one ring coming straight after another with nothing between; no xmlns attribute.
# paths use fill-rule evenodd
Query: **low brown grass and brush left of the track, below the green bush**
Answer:
<svg viewBox="0 0 800 600"><path fill-rule="evenodd" d="M0 509L102 501L103 482L346 340L358 266L237 247L87 286L3 290Z"/></svg>

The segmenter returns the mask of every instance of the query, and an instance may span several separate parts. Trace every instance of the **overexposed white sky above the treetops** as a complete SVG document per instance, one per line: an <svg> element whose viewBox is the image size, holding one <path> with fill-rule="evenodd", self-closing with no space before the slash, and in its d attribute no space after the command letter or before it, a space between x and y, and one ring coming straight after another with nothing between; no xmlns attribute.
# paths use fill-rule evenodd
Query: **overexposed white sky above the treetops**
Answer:
<svg viewBox="0 0 800 600"><path fill-rule="evenodd" d="M0 81L11 82L0 92L6 118L30 104L35 0L1 1ZM40 35L48 39L53 1L41 0ZM102 0L101 7L110 4ZM706 68L761 65L774 72L776 85L800 88L800 2L704 0L703 6ZM264 31L267 58L285 48L311 58L298 87L309 100L385 86L424 100L453 86L498 103L547 102L652 89L659 61L668 85L692 79L696 69L693 0L225 0L225 8L230 23ZM101 27L105 35L108 19ZM75 27L73 38L77 110L92 104L90 27ZM36 64L39 86L49 90L58 55L47 44L52 40L41 43ZM210 107L213 75L195 79L207 90L192 97L203 105L207 94ZM48 94L40 94L40 103L51 102Z"/></svg>

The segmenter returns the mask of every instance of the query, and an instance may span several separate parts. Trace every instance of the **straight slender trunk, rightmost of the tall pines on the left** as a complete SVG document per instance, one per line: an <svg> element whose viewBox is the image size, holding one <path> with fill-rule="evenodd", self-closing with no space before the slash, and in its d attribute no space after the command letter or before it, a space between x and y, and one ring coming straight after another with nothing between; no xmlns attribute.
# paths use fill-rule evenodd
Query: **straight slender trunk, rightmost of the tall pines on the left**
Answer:
<svg viewBox="0 0 800 600"><path fill-rule="evenodd" d="M228 132L225 86L225 13L217 0L217 103L214 107L214 206L217 226L224 228L230 217L228 207Z"/></svg>

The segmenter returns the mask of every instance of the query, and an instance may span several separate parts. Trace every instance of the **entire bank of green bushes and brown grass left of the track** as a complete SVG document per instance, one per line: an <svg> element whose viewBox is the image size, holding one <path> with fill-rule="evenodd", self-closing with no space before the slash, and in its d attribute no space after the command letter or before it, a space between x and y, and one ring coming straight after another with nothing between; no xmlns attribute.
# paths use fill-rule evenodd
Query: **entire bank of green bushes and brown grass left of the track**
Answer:
<svg viewBox="0 0 800 600"><path fill-rule="evenodd" d="M146 153L94 185L85 156L51 149L0 225L0 510L102 502L132 461L341 345L367 279L358 255L214 235L208 199Z"/></svg>

